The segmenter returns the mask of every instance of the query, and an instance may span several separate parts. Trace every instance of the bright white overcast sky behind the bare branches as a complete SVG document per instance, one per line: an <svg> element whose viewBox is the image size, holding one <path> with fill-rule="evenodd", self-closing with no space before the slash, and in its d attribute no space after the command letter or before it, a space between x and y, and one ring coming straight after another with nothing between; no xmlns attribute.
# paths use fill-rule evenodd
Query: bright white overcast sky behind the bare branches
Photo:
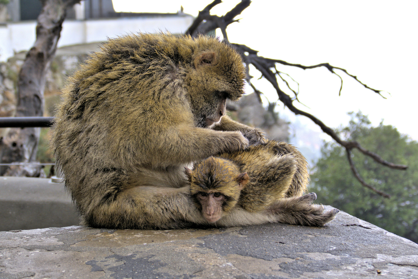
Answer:
<svg viewBox="0 0 418 279"><path fill-rule="evenodd" d="M223 15L239 2L224 0L212 14ZM117 11L175 13L182 5L184 13L196 16L209 3L117 0L114 7ZM309 108L297 107L326 125L346 125L347 112L361 110L373 124L384 119L385 124L418 140L417 11L416 0L254 0L237 17L240 23L232 23L227 33L229 41L246 44L261 56L303 65L329 62L347 69L370 87L390 93L383 92L387 97L383 99L340 72L344 85L339 97L340 79L326 69L279 67L300 84L299 100ZM251 74L260 91L270 101L276 100L273 88L257 82L256 71ZM278 111L294 119L288 109L283 111L283 105ZM310 123L308 119L301 121Z"/></svg>

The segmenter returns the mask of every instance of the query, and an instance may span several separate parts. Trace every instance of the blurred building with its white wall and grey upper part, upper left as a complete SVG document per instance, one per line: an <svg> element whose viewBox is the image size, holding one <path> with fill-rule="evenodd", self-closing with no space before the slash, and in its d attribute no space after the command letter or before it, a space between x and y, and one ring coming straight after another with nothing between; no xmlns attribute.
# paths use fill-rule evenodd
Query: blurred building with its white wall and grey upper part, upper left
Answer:
<svg viewBox="0 0 418 279"><path fill-rule="evenodd" d="M0 61L33 46L39 0L10 0L0 18ZM179 7L180 8L180 7ZM193 22L191 15L177 13L116 13L112 0L83 0L67 11L58 46L90 44L137 32L184 33Z"/></svg>

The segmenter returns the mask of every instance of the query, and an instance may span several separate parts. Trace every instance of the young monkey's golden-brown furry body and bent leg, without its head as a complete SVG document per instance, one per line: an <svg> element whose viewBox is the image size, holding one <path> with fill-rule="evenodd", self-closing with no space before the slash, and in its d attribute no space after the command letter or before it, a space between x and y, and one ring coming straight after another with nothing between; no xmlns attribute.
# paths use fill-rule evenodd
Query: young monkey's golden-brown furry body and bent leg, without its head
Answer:
<svg viewBox="0 0 418 279"><path fill-rule="evenodd" d="M279 198L299 197L307 191L308 163L291 144L270 140L245 151L219 156L238 164L250 177L240 199L240 205L246 210L264 209Z"/></svg>

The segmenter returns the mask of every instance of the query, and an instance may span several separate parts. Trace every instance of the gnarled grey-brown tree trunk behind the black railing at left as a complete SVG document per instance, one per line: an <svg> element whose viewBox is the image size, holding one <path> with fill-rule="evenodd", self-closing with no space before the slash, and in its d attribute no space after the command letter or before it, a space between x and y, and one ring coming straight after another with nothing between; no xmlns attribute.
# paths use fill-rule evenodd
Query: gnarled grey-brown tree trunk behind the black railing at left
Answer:
<svg viewBox="0 0 418 279"><path fill-rule="evenodd" d="M41 2L43 8L36 25L36 41L28 51L19 72L15 116L43 116L45 75L55 55L66 9L80 0ZM0 141L1 162L35 161L40 132L40 128L10 128ZM41 166L0 166L0 175L38 177L41 175Z"/></svg>

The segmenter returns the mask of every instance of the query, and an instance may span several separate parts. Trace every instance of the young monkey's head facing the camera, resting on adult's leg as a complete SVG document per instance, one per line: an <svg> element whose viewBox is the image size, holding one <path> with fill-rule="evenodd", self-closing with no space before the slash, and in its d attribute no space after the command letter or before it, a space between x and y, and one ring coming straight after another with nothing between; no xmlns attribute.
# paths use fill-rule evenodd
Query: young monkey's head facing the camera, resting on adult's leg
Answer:
<svg viewBox="0 0 418 279"><path fill-rule="evenodd" d="M203 218L214 223L234 208L250 179L232 161L209 157L185 171L190 193Z"/></svg>

